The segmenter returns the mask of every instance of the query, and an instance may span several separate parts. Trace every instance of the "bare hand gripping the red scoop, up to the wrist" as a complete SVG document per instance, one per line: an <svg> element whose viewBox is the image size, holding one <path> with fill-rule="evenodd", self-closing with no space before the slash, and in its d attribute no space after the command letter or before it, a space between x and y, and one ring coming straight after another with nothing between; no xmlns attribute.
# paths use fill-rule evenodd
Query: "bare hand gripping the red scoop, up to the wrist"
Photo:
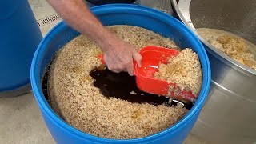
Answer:
<svg viewBox="0 0 256 144"><path fill-rule="evenodd" d="M102 50L106 66L115 73L126 71L130 76L134 75L134 60L138 67L141 67L141 54L129 42L116 36L113 36L108 44L102 45Z"/></svg>

